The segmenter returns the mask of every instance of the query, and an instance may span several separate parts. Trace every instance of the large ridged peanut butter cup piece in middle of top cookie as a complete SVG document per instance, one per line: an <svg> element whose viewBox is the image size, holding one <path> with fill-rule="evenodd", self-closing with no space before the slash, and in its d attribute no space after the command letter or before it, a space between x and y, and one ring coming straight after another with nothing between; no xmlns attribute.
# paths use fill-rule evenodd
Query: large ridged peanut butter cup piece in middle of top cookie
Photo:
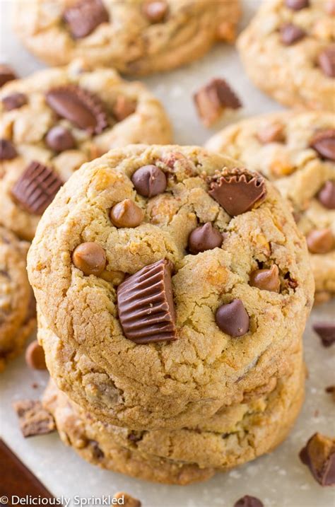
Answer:
<svg viewBox="0 0 335 507"><path fill-rule="evenodd" d="M171 264L160 260L129 276L117 288L119 320L125 336L137 344L174 340Z"/></svg>

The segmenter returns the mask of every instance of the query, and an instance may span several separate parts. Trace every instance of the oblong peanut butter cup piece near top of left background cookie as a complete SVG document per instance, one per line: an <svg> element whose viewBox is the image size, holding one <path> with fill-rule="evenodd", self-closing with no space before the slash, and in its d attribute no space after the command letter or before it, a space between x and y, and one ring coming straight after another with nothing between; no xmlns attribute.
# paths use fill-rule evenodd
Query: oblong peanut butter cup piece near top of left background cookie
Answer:
<svg viewBox="0 0 335 507"><path fill-rule="evenodd" d="M101 100L76 85L59 86L47 92L47 104L88 134L100 134L107 127L107 115Z"/></svg>

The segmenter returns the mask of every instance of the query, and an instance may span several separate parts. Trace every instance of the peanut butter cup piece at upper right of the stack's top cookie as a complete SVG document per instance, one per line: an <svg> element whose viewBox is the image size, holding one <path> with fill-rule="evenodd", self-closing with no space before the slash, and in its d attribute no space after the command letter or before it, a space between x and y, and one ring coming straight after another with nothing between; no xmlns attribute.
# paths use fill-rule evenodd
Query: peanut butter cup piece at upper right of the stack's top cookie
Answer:
<svg viewBox="0 0 335 507"><path fill-rule="evenodd" d="M230 216L250 211L266 196L264 178L247 170L233 169L210 181L208 194L215 199Z"/></svg>

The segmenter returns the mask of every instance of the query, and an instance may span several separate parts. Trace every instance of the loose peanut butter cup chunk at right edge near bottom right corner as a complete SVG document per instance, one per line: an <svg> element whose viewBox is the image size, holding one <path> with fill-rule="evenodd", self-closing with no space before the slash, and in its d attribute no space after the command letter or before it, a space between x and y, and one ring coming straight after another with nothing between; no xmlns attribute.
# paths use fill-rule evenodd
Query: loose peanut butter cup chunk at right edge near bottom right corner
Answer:
<svg viewBox="0 0 335 507"><path fill-rule="evenodd" d="M315 433L300 451L300 460L322 486L335 484L335 439Z"/></svg>

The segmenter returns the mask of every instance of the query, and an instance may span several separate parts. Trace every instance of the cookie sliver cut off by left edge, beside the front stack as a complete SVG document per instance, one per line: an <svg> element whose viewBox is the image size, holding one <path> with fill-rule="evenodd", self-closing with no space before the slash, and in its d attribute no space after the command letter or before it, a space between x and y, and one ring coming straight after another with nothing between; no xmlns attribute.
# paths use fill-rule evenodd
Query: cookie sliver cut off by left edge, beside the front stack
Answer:
<svg viewBox="0 0 335 507"><path fill-rule="evenodd" d="M36 323L25 267L28 246L0 226L0 371L20 353Z"/></svg>

